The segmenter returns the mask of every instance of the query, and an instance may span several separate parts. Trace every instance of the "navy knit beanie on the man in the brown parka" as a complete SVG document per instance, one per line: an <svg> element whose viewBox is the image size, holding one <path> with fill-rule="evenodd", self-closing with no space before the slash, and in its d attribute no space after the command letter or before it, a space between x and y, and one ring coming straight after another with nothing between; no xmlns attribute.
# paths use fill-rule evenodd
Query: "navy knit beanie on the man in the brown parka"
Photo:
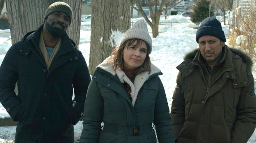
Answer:
<svg viewBox="0 0 256 143"><path fill-rule="evenodd" d="M226 41L224 31L222 30L221 23L215 17L205 18L199 26L196 34L196 41L204 35L211 35L218 37L222 41Z"/></svg>

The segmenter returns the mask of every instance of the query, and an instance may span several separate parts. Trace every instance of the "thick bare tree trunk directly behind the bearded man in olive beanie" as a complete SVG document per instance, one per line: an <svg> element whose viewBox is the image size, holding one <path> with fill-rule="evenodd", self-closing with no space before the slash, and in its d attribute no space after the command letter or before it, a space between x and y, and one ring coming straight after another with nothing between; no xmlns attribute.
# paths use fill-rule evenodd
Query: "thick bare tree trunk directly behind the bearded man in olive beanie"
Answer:
<svg viewBox="0 0 256 143"><path fill-rule="evenodd" d="M46 9L57 1L58 0L7 0L6 8L10 24L11 43L14 44L20 41L26 33L36 30L41 24L44 24ZM69 4L73 10L73 19L67 33L69 37L74 40L78 48L82 0L63 0L63 2ZM17 88L15 88L15 92L17 94Z"/></svg>

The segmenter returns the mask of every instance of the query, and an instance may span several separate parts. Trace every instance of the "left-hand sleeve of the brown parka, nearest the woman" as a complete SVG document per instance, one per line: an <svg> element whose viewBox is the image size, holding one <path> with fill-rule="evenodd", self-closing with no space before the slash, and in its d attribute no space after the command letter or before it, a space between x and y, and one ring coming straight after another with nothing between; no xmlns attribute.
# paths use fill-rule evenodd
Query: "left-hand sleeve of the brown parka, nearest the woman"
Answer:
<svg viewBox="0 0 256 143"><path fill-rule="evenodd" d="M172 96L171 122L175 140L178 139L181 129L185 122L185 99L182 91L182 75L181 72L177 76L177 86ZM184 85L183 85L184 86Z"/></svg>

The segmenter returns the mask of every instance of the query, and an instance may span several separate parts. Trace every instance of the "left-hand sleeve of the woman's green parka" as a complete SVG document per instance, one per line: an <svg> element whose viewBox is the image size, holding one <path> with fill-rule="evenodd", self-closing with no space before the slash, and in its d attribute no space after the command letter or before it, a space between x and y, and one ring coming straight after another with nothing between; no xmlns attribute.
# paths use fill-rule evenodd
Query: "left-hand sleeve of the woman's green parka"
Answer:
<svg viewBox="0 0 256 143"><path fill-rule="evenodd" d="M86 95L83 115L83 130L79 143L96 143L100 124L103 118L104 100L98 90L97 83L92 80Z"/></svg>

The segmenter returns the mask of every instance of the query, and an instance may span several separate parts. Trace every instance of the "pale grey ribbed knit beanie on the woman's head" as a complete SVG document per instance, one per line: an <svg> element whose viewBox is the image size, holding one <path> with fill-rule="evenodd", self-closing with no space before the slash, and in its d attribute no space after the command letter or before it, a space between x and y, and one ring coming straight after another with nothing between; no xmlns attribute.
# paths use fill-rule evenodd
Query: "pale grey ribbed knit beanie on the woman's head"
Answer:
<svg viewBox="0 0 256 143"><path fill-rule="evenodd" d="M128 29L122 36L120 45L129 39L141 39L149 45L149 54L152 52L152 39L148 33L147 24L143 19L138 20L132 28Z"/></svg>

